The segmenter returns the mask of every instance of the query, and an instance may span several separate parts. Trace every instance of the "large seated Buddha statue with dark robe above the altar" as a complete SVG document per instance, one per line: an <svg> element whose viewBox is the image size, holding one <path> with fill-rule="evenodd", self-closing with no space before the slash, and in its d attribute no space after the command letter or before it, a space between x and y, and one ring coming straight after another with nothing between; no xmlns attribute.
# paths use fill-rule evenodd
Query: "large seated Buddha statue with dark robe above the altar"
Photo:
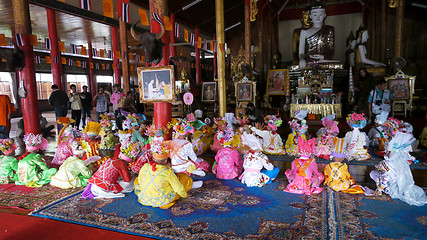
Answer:
<svg viewBox="0 0 427 240"><path fill-rule="evenodd" d="M299 66L306 67L307 62L327 62L334 57L335 29L324 25L326 9L320 1L316 1L310 10L313 25L301 30L299 43Z"/></svg>

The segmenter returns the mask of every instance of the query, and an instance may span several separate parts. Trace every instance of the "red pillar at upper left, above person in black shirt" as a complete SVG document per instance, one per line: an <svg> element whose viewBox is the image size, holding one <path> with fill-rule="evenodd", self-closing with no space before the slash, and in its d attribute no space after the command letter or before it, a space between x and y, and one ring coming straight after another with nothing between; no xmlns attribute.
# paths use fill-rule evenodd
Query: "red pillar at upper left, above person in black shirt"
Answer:
<svg viewBox="0 0 427 240"><path fill-rule="evenodd" d="M56 31L56 17L55 10L46 9L47 11L47 27L49 30L50 39L50 58L52 63L50 64L52 69L53 84L58 85L59 89L65 90L65 86L62 86L62 63L61 53L58 47L58 32Z"/></svg>

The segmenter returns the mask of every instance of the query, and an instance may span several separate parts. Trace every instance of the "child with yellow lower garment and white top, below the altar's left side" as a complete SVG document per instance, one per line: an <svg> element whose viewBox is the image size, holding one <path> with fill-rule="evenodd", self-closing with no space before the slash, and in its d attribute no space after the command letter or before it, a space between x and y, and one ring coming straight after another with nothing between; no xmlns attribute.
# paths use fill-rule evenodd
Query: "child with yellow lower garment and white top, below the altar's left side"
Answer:
<svg viewBox="0 0 427 240"><path fill-rule="evenodd" d="M289 121L289 125L292 129L292 132L288 135L288 139L285 143L286 153L290 156L298 156L298 138L302 137L305 140L305 132L307 132L307 124L305 117L307 116L307 110L301 110L295 113L295 118L292 121Z"/></svg>

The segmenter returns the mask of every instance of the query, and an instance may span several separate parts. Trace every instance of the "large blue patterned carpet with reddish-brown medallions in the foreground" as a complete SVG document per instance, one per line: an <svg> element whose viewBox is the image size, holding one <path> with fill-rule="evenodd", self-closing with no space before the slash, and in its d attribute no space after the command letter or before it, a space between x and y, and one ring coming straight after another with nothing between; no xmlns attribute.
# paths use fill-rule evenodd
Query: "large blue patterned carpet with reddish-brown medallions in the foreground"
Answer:
<svg viewBox="0 0 427 240"><path fill-rule="evenodd" d="M388 196L365 198L324 189L301 196L285 193L278 179L262 188L237 180L204 178L168 210L145 207L135 194L85 200L75 194L32 213L134 235L166 239L422 239L427 207Z"/></svg>

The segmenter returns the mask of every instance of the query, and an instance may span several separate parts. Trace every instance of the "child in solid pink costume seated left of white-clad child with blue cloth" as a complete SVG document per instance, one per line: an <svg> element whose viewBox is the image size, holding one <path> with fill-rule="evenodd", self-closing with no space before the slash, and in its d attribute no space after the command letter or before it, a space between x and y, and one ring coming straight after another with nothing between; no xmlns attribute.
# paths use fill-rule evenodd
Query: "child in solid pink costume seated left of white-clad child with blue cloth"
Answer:
<svg viewBox="0 0 427 240"><path fill-rule="evenodd" d="M212 172L220 179L233 179L242 172L242 158L239 152L232 146L233 138L237 138L232 129L218 132L218 139L224 146L215 156Z"/></svg>

